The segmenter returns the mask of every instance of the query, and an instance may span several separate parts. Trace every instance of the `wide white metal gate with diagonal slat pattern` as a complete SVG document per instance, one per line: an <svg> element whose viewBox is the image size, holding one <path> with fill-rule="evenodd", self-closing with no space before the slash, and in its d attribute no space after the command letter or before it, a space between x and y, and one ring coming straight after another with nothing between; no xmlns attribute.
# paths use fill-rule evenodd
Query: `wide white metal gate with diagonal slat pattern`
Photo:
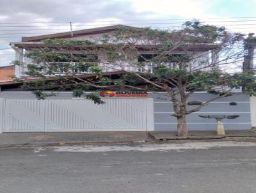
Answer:
<svg viewBox="0 0 256 193"><path fill-rule="evenodd" d="M152 98L4 98L2 132L154 130Z"/></svg>

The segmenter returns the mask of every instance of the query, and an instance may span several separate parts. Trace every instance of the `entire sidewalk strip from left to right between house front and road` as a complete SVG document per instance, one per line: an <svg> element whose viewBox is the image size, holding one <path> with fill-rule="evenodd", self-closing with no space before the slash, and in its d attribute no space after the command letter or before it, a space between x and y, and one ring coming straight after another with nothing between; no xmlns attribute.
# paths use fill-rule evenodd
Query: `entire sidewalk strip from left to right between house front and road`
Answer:
<svg viewBox="0 0 256 193"><path fill-rule="evenodd" d="M189 131L189 137L177 137L176 132L33 132L0 134L0 146L83 144L83 143L131 143L138 141L168 141L176 139L221 139L225 137L255 137L253 130L227 130L226 135L215 131Z"/></svg>

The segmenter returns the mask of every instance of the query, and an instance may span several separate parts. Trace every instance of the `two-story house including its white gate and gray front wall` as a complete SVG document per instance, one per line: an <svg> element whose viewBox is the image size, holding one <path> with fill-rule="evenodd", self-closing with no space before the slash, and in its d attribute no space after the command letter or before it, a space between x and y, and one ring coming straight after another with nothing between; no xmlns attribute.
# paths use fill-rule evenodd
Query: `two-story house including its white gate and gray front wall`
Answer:
<svg viewBox="0 0 256 193"><path fill-rule="evenodd" d="M64 38L64 39L83 39L95 41L102 35L111 35L120 26L97 27L93 29L84 29L73 31L72 33L54 33L51 35L24 37L21 42L11 43L16 51L16 59L21 65L15 66L16 77L22 79L31 79L26 75L26 65L31 63L24 54L31 52L35 48L45 47L42 40ZM122 26L129 27L129 26ZM204 63L216 61L218 56L216 49L218 45L211 43L195 43L195 49L190 50L172 50L172 54L182 55L188 52L197 54L193 65L200 66ZM152 58L154 52L148 47L140 50L142 57L134 57L138 62L143 63L146 59ZM72 52L72 54L81 54ZM108 59L105 52L88 53L93 54L97 59L98 65L106 65ZM85 54L86 55L86 54ZM84 56L86 57L86 56ZM60 62L60 61L58 61ZM61 61L65 63L66 61ZM68 61L70 62L70 61ZM72 61L73 62L73 61ZM152 72L154 63L145 61L145 68L133 68L129 65L112 68L111 63L104 68L104 75L111 75L118 79L121 73L127 73L131 70L143 72L147 70ZM74 61L76 65L76 61ZM173 61L164 61L164 65L170 68L175 67ZM109 68L108 68L109 67ZM118 70L118 72L116 71ZM61 72L60 72L61 73ZM90 70L84 72L83 77L96 77ZM55 79L49 77L48 80ZM26 81L25 81L26 82ZM150 130L176 130L177 121L172 114L172 102L170 97L164 93L148 93L148 97L102 97L106 101L104 105L94 105L90 100L84 98L74 98L72 92L63 91L56 96L46 100L36 100L35 95L29 90L19 89L22 82L0 82L0 107L3 109L0 113L0 132L88 132L88 131L150 131ZM116 90L115 94L120 93ZM101 96L101 95L100 95ZM211 98L209 93L199 92L189 97L189 101L205 101ZM237 105L230 105L235 102ZM234 103L233 103L234 104ZM243 111L241 111L241 108ZM188 117L188 128L190 130L214 130L216 122L213 119L206 120L198 115L209 114L234 114L236 112L239 118L236 120L227 120L224 125L226 129L248 129L252 127L250 119L250 98L242 93L239 95L222 98L217 102L209 104L202 109L202 112L195 112Z"/></svg>

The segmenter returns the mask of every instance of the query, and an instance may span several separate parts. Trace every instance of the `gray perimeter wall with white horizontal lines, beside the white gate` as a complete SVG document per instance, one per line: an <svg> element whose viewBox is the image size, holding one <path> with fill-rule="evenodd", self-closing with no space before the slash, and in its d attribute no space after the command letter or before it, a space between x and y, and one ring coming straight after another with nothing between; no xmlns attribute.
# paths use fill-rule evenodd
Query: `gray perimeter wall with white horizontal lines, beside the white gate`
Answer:
<svg viewBox="0 0 256 193"><path fill-rule="evenodd" d="M155 130L176 130L177 123L175 117L171 116L173 112L172 102L166 96L166 93L150 93L150 97L154 98L154 122ZM70 92L61 93L57 98L72 98ZM205 102L214 95L207 93L195 93L189 101ZM0 92L0 98L35 98L31 92L20 91L3 91ZM229 105L230 102L236 102L237 105ZM189 109L196 107L196 105L189 105ZM204 119L198 115L239 115L236 120L223 120L224 127L227 130L242 130L250 129L251 115L250 115L250 97L243 93L237 93L233 96L228 96L216 100L206 107L202 108L200 112L195 112L188 115L188 128L189 130L215 130L215 119Z"/></svg>

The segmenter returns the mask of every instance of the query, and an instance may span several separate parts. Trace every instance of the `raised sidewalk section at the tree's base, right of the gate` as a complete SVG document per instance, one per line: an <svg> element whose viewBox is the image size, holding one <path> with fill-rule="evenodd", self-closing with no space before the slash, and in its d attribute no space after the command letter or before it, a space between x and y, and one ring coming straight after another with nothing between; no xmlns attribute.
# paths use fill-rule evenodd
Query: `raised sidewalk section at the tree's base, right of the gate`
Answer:
<svg viewBox="0 0 256 193"><path fill-rule="evenodd" d="M225 137L256 137L254 130L226 130L226 135L217 135L216 131L189 131L189 137L177 137L176 132L154 131L149 134L158 141L175 139L221 139Z"/></svg>

